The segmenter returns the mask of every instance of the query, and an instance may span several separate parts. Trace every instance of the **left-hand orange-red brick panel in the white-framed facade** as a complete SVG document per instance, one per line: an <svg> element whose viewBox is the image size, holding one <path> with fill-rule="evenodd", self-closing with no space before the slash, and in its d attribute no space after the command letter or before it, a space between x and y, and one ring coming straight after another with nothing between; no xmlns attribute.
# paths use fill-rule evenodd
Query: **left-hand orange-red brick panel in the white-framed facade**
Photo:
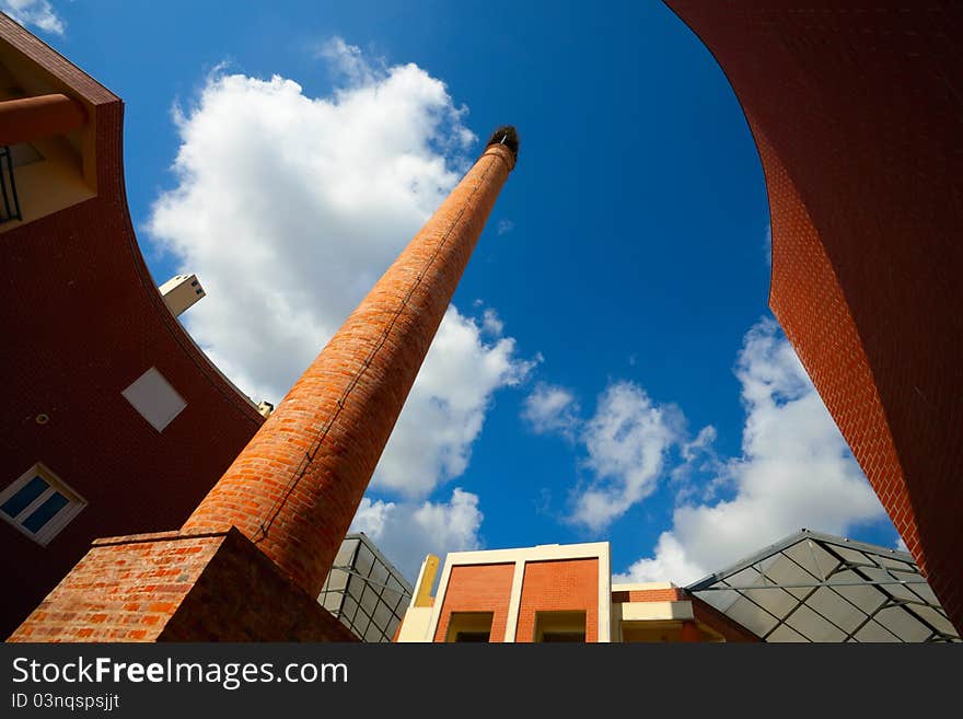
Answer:
<svg viewBox="0 0 963 719"><path fill-rule="evenodd" d="M452 612L492 612L490 641L503 641L514 571L514 563L452 567L434 641L445 640Z"/></svg>

